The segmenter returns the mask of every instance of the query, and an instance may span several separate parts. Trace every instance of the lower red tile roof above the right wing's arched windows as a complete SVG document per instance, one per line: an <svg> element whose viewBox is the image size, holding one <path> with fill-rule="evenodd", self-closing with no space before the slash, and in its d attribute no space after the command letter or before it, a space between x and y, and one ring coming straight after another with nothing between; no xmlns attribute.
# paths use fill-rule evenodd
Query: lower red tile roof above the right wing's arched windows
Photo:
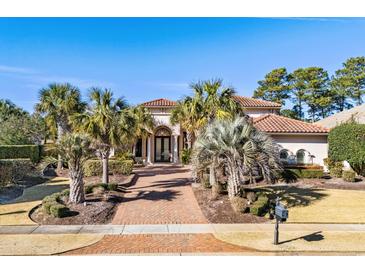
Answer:
<svg viewBox="0 0 365 274"><path fill-rule="evenodd" d="M256 128L268 133L328 133L327 128L290 119L276 114L267 114L253 119Z"/></svg>

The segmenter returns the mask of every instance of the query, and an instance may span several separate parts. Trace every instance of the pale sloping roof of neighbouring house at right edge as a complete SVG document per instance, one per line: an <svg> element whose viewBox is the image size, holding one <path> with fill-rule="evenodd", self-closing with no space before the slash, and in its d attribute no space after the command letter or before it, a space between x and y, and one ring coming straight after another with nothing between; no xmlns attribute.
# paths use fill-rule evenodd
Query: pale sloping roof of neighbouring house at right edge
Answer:
<svg viewBox="0 0 365 274"><path fill-rule="evenodd" d="M338 112L315 122L315 124L332 129L350 120L354 120L359 124L365 124L365 104Z"/></svg>

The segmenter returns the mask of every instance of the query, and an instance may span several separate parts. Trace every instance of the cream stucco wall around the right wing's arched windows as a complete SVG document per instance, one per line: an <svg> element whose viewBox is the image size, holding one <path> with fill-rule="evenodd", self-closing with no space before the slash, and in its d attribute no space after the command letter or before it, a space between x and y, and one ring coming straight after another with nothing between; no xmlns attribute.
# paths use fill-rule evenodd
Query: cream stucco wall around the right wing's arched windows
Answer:
<svg viewBox="0 0 365 274"><path fill-rule="evenodd" d="M296 155L297 151L304 149L313 158L314 164L324 166L323 159L328 155L327 136L323 135L272 135L273 139L284 149L287 149L293 155ZM306 153L307 156L307 153ZM309 163L309 157L307 158Z"/></svg>

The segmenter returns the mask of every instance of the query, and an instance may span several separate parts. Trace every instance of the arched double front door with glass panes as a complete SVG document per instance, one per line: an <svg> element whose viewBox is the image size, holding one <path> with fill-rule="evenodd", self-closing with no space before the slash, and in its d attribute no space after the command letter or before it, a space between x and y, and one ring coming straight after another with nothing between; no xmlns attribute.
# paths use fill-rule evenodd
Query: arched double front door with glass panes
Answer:
<svg viewBox="0 0 365 274"><path fill-rule="evenodd" d="M155 162L171 162L171 130L167 127L155 132Z"/></svg>

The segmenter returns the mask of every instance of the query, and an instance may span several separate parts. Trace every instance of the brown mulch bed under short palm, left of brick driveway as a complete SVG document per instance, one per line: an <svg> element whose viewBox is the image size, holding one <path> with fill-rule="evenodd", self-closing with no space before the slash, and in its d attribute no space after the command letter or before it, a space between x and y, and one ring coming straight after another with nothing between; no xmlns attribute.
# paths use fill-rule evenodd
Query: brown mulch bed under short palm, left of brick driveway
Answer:
<svg viewBox="0 0 365 274"><path fill-rule="evenodd" d="M55 218L44 214L41 207L30 214L30 218L42 225L89 225L108 224L112 221L123 194L119 191L110 191L102 196L88 194L86 206L84 204L67 204L70 216Z"/></svg>

